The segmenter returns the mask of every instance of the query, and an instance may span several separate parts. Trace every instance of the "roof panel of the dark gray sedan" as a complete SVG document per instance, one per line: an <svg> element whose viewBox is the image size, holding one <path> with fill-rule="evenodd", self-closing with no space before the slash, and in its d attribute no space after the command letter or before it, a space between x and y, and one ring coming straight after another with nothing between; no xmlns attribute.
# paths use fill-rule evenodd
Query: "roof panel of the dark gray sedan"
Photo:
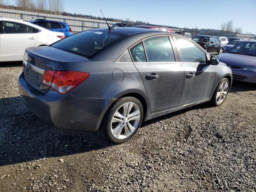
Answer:
<svg viewBox="0 0 256 192"><path fill-rule="evenodd" d="M109 31L108 28L96 28L91 30L100 30L100 31L107 31L107 32ZM142 32L152 32L156 35L157 34L166 34L166 35L174 34L168 31L151 30L148 28L139 28L139 27L117 27L117 28L112 28L110 32L120 33L124 35L132 35L132 34L142 33ZM179 35L179 34L175 34L175 35Z"/></svg>

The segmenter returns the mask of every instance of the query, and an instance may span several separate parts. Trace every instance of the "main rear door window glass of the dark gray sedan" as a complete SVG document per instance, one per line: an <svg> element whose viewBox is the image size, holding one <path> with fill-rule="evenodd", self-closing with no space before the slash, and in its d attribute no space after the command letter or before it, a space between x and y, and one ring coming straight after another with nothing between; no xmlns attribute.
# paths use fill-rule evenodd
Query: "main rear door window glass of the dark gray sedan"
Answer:
<svg viewBox="0 0 256 192"><path fill-rule="evenodd" d="M148 62L175 62L168 36L153 37L143 41Z"/></svg>

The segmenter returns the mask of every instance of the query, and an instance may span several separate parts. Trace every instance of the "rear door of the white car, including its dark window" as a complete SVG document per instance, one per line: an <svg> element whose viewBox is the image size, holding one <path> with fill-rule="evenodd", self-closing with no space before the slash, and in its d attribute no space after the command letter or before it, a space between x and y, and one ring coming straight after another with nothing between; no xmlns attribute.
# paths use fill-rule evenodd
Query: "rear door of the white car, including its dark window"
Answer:
<svg viewBox="0 0 256 192"><path fill-rule="evenodd" d="M3 21L0 34L2 59L22 59L25 49L36 45L38 36L34 28L18 22Z"/></svg>

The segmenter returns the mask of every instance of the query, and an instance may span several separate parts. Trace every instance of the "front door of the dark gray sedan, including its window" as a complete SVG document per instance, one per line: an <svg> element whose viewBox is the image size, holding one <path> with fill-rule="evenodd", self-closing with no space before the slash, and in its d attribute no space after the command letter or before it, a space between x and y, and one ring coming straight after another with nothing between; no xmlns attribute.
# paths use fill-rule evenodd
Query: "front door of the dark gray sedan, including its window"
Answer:
<svg viewBox="0 0 256 192"><path fill-rule="evenodd" d="M193 42L181 37L174 37L174 41L185 71L179 106L208 99L215 78L214 67L206 63L205 52Z"/></svg>

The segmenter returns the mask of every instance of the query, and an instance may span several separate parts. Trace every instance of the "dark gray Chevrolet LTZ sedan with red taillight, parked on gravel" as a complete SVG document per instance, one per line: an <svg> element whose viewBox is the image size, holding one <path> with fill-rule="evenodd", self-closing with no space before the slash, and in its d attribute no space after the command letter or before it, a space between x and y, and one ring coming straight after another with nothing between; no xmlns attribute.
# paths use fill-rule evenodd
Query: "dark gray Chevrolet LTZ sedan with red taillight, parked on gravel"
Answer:
<svg viewBox="0 0 256 192"><path fill-rule="evenodd" d="M21 98L42 120L122 143L144 120L207 101L220 106L232 71L178 34L99 28L27 48L18 79Z"/></svg>

